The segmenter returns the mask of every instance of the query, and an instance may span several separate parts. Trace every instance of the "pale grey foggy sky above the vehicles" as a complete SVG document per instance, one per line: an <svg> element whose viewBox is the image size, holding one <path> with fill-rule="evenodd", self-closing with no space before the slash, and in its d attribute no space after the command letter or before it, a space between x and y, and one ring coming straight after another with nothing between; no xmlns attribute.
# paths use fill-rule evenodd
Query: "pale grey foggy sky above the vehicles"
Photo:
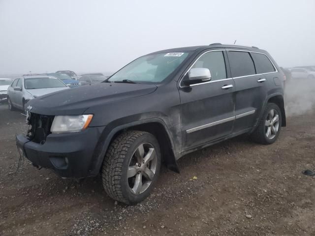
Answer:
<svg viewBox="0 0 315 236"><path fill-rule="evenodd" d="M315 65L315 0L0 0L0 74L116 71L144 54L214 42Z"/></svg>

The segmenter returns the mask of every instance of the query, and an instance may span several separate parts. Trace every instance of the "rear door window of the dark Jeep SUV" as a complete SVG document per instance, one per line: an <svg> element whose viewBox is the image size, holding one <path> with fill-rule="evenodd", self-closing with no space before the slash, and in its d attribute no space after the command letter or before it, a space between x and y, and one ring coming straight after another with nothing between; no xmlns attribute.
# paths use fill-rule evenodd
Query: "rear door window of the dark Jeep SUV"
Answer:
<svg viewBox="0 0 315 236"><path fill-rule="evenodd" d="M232 77L256 74L254 62L247 52L228 51L228 61L230 62Z"/></svg>

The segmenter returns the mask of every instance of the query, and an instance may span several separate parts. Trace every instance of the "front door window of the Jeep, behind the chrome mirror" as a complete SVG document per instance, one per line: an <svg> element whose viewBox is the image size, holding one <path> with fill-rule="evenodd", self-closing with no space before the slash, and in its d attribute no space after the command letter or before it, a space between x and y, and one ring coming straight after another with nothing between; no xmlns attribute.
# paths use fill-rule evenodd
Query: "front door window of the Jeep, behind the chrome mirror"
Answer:
<svg viewBox="0 0 315 236"><path fill-rule="evenodd" d="M226 68L222 51L205 53L191 68L208 68L211 73L211 81L226 79Z"/></svg>

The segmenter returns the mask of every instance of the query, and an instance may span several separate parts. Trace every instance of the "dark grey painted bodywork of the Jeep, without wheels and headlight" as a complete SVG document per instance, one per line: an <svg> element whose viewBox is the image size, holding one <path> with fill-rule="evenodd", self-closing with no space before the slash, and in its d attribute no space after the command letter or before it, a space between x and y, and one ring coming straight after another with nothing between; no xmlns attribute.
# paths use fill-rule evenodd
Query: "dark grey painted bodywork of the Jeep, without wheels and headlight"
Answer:
<svg viewBox="0 0 315 236"><path fill-rule="evenodd" d="M186 58L161 82L133 83L126 80L120 81L124 83L109 83L111 78L115 78L114 74L108 83L67 89L32 99L27 104L31 107L29 115L37 121L46 120L46 126L43 127L41 121L43 135L40 142L17 135L17 145L34 165L52 169L62 177L82 178L99 173L113 137L123 130L146 123L156 123L165 131L171 154L163 158L171 159L175 165L176 160L186 153L251 132L268 99L283 96L282 84L277 84L275 79L283 75L270 59L275 67L272 73L257 73L254 68L251 76L235 76L231 73L229 50L246 51L250 58L252 53L268 55L256 48L231 45L177 48L149 54L180 57L178 55L185 53ZM223 67L211 71L211 81L185 84L190 68L206 66L207 60L202 61L205 55L213 63L219 57ZM171 59L170 63L176 60ZM137 78L137 75L133 77ZM260 79L262 83L257 82ZM93 115L85 130L50 132L51 122L56 116L85 114ZM285 113L283 116L285 118Z"/></svg>

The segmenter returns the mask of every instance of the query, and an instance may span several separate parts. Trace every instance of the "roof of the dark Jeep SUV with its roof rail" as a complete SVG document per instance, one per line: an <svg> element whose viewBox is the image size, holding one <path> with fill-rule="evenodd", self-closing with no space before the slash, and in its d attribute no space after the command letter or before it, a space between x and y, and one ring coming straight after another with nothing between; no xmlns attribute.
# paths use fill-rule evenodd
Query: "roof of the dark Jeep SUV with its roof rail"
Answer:
<svg viewBox="0 0 315 236"><path fill-rule="evenodd" d="M203 46L193 46L193 47L182 47L182 48L171 48L171 49L166 49L166 50L161 50L157 51L151 54L155 53L166 53L166 52L182 52L182 51L202 51L204 49L212 49L212 48L235 48L235 49L241 49L241 50L249 50L253 52L266 52L265 50L259 49L257 47L248 47L248 46L240 46L240 45L228 45L228 44L219 44L219 43L214 43L210 45L203 45Z"/></svg>

